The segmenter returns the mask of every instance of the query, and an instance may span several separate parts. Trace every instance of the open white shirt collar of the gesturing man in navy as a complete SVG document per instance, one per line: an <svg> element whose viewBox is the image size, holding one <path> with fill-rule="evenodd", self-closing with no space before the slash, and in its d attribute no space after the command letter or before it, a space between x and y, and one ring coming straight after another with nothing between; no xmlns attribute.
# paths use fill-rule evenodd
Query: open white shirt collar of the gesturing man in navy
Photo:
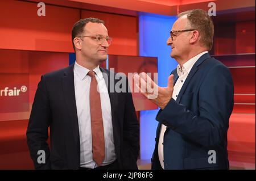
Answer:
<svg viewBox="0 0 256 181"><path fill-rule="evenodd" d="M177 74L179 75L179 77L185 73L189 74L189 71L192 69L192 67L196 63L196 61L199 60L199 58L201 56L203 56L203 54L205 54L205 53L208 53L208 51L199 53L195 57L192 57L191 59L189 59L187 62L185 62L185 64L183 64L182 69L181 69L180 64L177 65Z"/></svg>

